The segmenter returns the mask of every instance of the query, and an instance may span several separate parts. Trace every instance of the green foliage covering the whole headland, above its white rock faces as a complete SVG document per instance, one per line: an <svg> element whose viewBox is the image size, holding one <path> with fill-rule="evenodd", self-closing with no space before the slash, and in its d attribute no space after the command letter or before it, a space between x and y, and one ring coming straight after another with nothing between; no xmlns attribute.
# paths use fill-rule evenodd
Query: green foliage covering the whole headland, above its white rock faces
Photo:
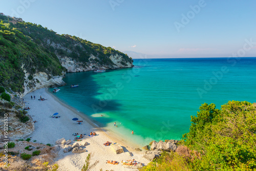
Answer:
<svg viewBox="0 0 256 171"><path fill-rule="evenodd" d="M110 55L121 55L124 61L132 61L127 55L110 47L83 40L67 34L56 34L52 30L32 23L12 23L12 19L0 15L0 86L23 92L25 73L28 79L46 72L49 78L66 71L59 57L67 56L80 61L84 66L93 54L99 65L113 65ZM35 80L37 81L37 80Z"/></svg>

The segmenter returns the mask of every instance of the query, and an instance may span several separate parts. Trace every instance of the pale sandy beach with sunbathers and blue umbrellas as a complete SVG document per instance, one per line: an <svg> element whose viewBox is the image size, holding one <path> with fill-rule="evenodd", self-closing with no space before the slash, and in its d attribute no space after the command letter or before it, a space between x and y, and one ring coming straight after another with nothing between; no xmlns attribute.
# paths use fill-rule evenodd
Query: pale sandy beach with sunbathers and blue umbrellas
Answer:
<svg viewBox="0 0 256 171"><path fill-rule="evenodd" d="M31 100L31 96L35 96ZM37 99L45 98L45 101L39 101ZM142 158L143 151L137 152L134 151L132 147L129 147L127 144L119 141L113 134L108 134L107 132L97 127L92 123L86 116L79 114L70 106L63 104L56 97L50 94L47 89L36 90L32 93L27 94L24 97L26 102L26 107L29 107L30 110L28 114L32 116L35 123L35 131L29 136L32 137L31 140L38 143L52 144L55 145L56 140L65 138L66 140L74 140L75 136L72 134L86 134L82 141L88 142L89 145L86 146L88 152L85 153L63 153L61 150L58 153L58 157L55 162L59 165L58 170L65 171L78 171L81 170L83 164L85 163L86 157L89 153L93 154L91 163L99 161L98 164L90 170L134 170L129 168L124 168L121 161L135 159L138 162L141 162L143 165L146 165L149 161L145 158ZM57 116L59 118L52 118L54 113L59 113ZM82 120L82 124L77 124L76 121L73 121L72 118L78 118ZM94 137L89 137L88 135L91 132L96 132L98 135ZM112 136L111 136L112 135ZM119 143L124 152L132 152L132 156L129 153L116 154L110 146L104 146L103 143L110 141L112 143ZM74 143L76 141L72 141ZM112 165L106 163L106 160L118 161L119 164Z"/></svg>

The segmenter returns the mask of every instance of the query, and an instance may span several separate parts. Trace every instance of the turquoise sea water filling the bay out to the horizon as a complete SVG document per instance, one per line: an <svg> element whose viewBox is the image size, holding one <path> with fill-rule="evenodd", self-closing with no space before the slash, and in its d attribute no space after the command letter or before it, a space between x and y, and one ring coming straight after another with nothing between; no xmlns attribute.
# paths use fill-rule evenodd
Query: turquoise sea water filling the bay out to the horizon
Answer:
<svg viewBox="0 0 256 171"><path fill-rule="evenodd" d="M134 59L134 65L105 73L68 73L63 79L67 86L55 95L140 145L181 139L202 103L220 108L229 100L256 101L256 58Z"/></svg>

